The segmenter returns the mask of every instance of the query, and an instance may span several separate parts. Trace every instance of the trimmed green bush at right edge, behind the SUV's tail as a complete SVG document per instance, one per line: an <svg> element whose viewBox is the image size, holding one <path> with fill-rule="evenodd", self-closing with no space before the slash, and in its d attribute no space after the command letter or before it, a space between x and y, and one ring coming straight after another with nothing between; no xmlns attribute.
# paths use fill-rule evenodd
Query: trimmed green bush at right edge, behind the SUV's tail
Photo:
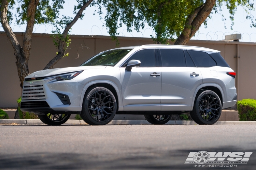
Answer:
<svg viewBox="0 0 256 170"><path fill-rule="evenodd" d="M256 121L256 100L243 99L237 102L239 121Z"/></svg>

